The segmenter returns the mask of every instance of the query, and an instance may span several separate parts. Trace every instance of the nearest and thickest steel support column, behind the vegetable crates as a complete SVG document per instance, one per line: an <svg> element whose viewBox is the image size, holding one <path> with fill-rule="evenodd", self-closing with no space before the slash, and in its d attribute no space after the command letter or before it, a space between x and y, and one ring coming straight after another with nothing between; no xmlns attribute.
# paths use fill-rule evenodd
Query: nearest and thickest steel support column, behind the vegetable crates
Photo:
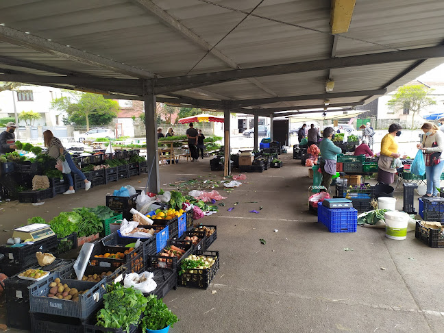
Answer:
<svg viewBox="0 0 444 333"><path fill-rule="evenodd" d="M151 87L145 82L145 129L147 136L147 160L148 160L148 190L152 193L159 193L159 156L156 124L156 96Z"/></svg>

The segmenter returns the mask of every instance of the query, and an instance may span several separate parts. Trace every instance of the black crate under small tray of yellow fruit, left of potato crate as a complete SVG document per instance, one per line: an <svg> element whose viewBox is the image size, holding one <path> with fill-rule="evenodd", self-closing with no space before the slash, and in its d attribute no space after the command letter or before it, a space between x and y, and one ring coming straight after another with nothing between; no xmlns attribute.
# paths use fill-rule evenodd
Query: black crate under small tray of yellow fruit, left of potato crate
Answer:
<svg viewBox="0 0 444 333"><path fill-rule="evenodd" d="M51 273L56 271L62 271L66 266L73 263L73 260L65 260L65 259L56 259L52 264L49 264L45 267L40 267L39 264L34 264L27 269L42 269L44 271L49 271ZM25 271L24 269L23 271ZM20 272L22 273L22 272ZM27 312L29 311L29 289L28 287L34 284L33 281L23 280L18 277L18 274L12 275L8 277L8 279L4 280L5 284L5 299L8 304L14 303L25 303L27 306ZM7 308L8 308L7 307Z"/></svg>

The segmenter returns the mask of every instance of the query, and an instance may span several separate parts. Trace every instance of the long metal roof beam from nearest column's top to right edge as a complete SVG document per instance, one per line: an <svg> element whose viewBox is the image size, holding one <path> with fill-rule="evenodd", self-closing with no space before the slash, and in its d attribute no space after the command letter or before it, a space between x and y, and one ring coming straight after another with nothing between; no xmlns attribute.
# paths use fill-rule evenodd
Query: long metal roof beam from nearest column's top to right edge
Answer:
<svg viewBox="0 0 444 333"><path fill-rule="evenodd" d="M311 71L322 71L328 69L340 69L355 66L367 66L372 64L386 64L391 62L403 62L441 57L444 57L443 46L424 47L420 49L408 49L403 51L372 53L360 56L329 58L306 62L294 62L291 64L253 67L249 69L234 69L231 71L219 71L204 74L184 75L178 77L165 77L156 79L155 85L178 86L180 84L203 84L204 82L208 83L223 80L234 81L236 79L245 79L249 77L305 73Z"/></svg>

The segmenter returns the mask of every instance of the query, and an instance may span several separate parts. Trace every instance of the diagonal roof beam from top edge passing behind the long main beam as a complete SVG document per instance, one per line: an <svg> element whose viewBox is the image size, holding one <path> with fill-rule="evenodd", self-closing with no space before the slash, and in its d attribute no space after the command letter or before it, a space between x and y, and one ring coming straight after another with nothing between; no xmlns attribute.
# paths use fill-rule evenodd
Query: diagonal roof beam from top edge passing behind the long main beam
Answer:
<svg viewBox="0 0 444 333"><path fill-rule="evenodd" d="M236 62L234 62L229 57L225 56L225 54L223 54L215 47L212 47L212 45L206 42L206 40L202 39L201 36L195 34L192 30L190 30L188 27L186 27L186 25L184 25L180 21L177 21L173 16L171 16L169 13L165 12L164 10L162 10L162 8L156 5L156 3L153 3L153 1L150 0L134 0L134 1L140 4L146 10L149 10L151 14L155 15L163 23L174 29L175 32L178 32L185 38L188 38L188 40L191 40L191 42L201 47L201 49L204 49L208 53L211 53L212 56L218 58L222 62L225 62L225 64L232 67L233 69L242 69L242 67L236 64ZM264 84L260 83L257 79L249 78L248 80L249 82L257 86L258 88L264 90L265 92L269 93L270 95L277 96L277 94L273 90L271 90L267 86L264 86Z"/></svg>

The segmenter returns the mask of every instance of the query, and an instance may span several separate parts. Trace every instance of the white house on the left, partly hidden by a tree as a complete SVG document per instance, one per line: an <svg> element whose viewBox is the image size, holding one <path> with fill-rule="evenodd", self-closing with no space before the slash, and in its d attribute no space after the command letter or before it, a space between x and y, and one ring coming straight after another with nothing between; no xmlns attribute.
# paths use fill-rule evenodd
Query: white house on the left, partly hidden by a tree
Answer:
<svg viewBox="0 0 444 333"><path fill-rule="evenodd" d="M59 88L45 86L21 86L18 91L5 90L0 93L0 118L14 117L15 112L34 111L40 113L34 126L54 127L63 125L64 112L51 110L51 101L63 97ZM66 93L65 93L66 94ZM18 125L24 126L24 121Z"/></svg>

